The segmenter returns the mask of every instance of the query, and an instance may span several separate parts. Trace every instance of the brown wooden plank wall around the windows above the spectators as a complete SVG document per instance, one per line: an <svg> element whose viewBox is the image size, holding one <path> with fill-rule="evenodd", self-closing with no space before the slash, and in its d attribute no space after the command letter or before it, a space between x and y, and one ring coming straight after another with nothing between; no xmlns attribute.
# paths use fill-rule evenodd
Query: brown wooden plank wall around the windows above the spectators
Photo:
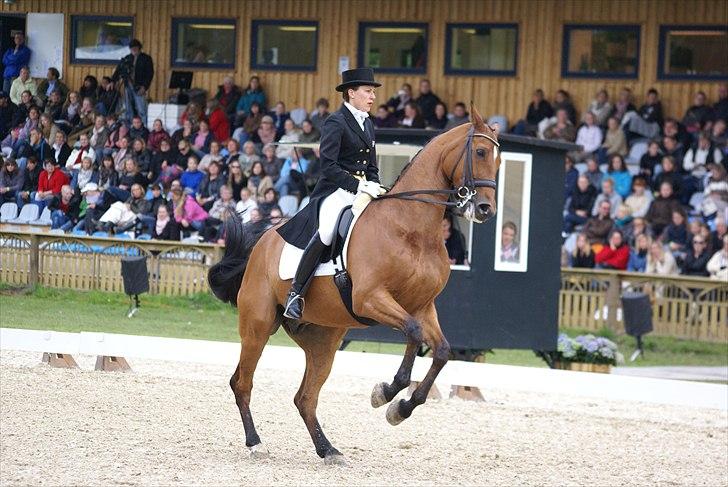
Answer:
<svg viewBox="0 0 728 487"><path fill-rule="evenodd" d="M117 14L135 17L135 35L155 61L151 90L156 100L168 96L171 17L234 17L238 20L235 71L195 70L194 85L215 89L225 75L245 84L250 71L250 25L252 19L318 20L318 71L290 73L258 71L269 100L282 99L289 107L312 107L320 96L334 100L338 80L338 58L348 55L356 65L359 21L420 21L429 23L427 77L433 90L448 104L474 100L488 114L505 114L513 121L525 113L536 87L549 95L558 88L570 91L577 109L583 109L600 88L612 97L628 86L637 102L650 87L657 88L666 112L682 116L692 94L702 89L710 101L717 97L714 82L657 81L657 44L660 24L725 24L725 0L17 0L3 4L2 11L63 12L66 14ZM446 22L515 22L519 24L518 71L516 77L470 77L444 75ZM561 44L564 23L617 23L642 26L640 77L638 80L562 79ZM66 18L66 33L70 19ZM67 40L64 77L78 87L86 74L97 77L113 68L69 65ZM415 85L419 76L379 75L384 83L380 100L388 98L402 82Z"/></svg>

